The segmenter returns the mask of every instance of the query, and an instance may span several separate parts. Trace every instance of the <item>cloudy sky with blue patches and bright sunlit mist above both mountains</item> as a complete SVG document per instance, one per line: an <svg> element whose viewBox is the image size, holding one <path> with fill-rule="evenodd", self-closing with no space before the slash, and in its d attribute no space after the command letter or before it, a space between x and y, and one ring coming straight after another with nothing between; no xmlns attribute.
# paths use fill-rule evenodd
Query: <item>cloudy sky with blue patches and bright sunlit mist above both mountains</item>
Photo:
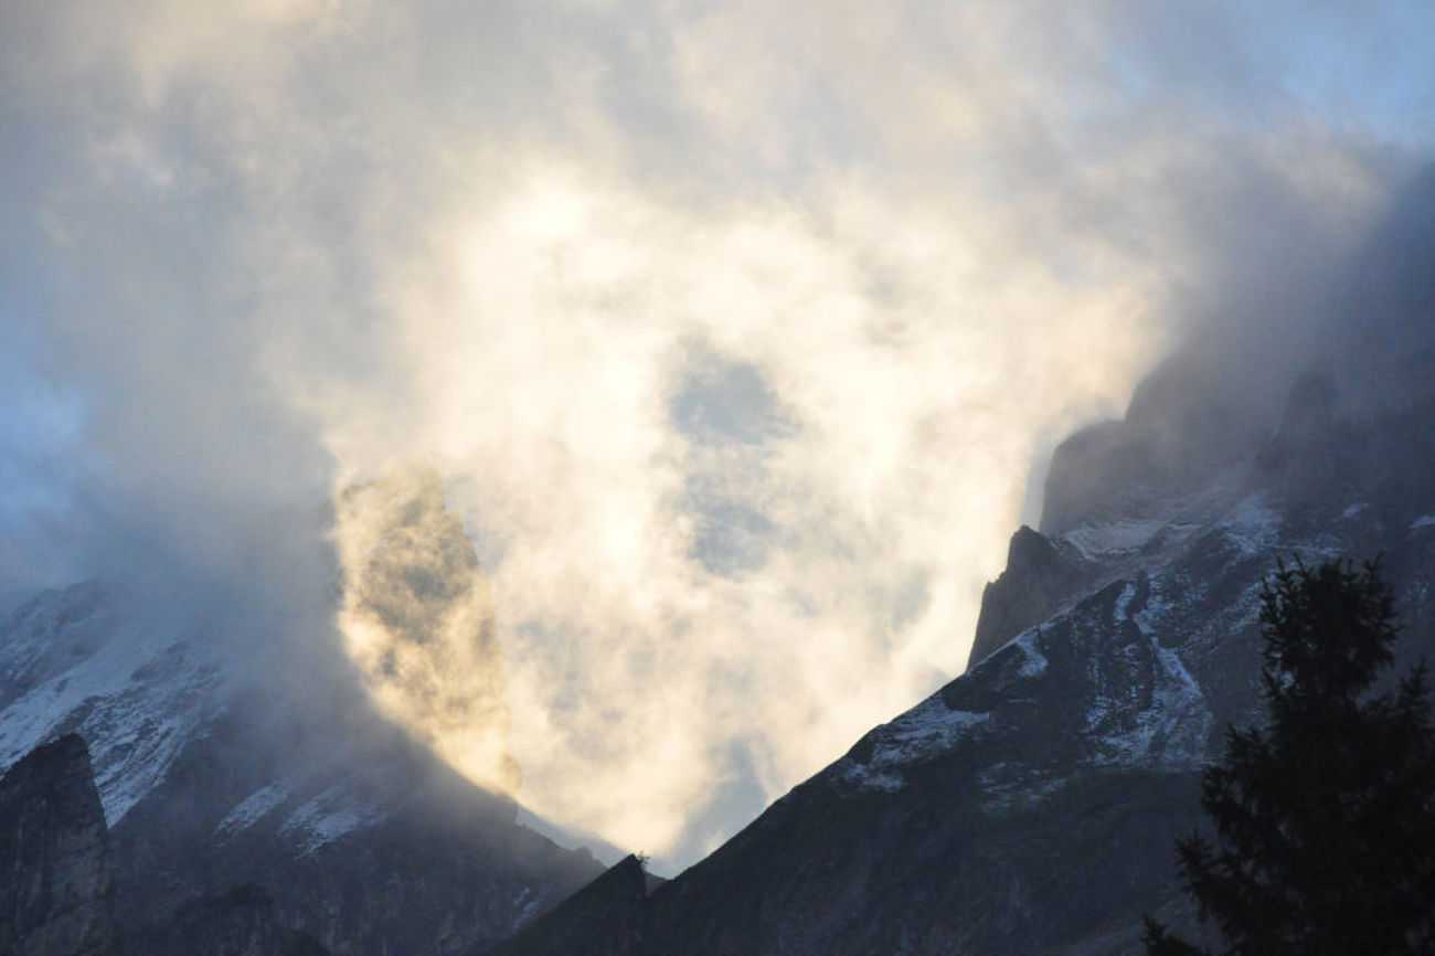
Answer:
<svg viewBox="0 0 1435 956"><path fill-rule="evenodd" d="M433 468L515 797L680 867L961 672L1062 436L1304 334L1432 47L1393 0L4 4L0 590L222 594L323 666L323 502Z"/></svg>

